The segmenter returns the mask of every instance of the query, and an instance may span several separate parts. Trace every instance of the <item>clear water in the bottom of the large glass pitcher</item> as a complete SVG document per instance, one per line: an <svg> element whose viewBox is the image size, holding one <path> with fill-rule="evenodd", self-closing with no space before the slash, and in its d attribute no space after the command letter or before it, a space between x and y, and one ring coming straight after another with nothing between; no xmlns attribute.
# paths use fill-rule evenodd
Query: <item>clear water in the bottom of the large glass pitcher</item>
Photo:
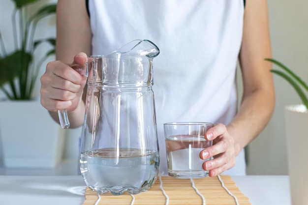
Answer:
<svg viewBox="0 0 308 205"><path fill-rule="evenodd" d="M98 193L114 195L147 191L158 175L158 152L142 149L95 149L81 154L86 184Z"/></svg>

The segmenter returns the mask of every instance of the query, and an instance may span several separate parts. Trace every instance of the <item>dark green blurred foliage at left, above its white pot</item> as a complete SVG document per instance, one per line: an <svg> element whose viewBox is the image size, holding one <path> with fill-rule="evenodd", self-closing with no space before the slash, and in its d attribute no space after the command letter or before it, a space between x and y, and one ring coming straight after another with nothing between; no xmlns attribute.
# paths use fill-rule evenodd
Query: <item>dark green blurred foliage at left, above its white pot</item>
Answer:
<svg viewBox="0 0 308 205"><path fill-rule="evenodd" d="M39 69L50 55L55 53L55 38L34 40L37 23L42 18L56 13L56 4L41 7L33 15L28 14L29 5L39 0L13 0L15 8L11 20L13 27L14 51L6 52L0 33L0 89L10 100L31 100ZM36 66L34 50L43 42L52 45ZM8 83L8 88L3 85Z"/></svg>

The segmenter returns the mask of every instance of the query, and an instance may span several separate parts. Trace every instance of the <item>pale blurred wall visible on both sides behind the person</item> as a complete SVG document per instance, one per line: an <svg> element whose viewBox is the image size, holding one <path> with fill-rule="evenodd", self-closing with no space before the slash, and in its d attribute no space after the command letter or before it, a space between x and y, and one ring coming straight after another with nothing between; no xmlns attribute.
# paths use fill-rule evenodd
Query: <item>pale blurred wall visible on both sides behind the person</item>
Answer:
<svg viewBox="0 0 308 205"><path fill-rule="evenodd" d="M40 7L43 4L56 2L57 0L41 0L34 3L33 8ZM301 76L304 81L308 82L308 1L269 0L268 6L273 58L278 59L285 65L289 66L293 71L295 71L295 73ZM10 18L13 7L13 1L1 1L0 31L2 38L5 39L8 53L13 51L13 40L12 25L10 21L6 21L6 18ZM39 24L44 26L37 26L37 37L55 37L55 22L55 16L47 17L40 21ZM44 53L42 51L49 49L47 48L48 46L48 44L40 46L35 52L35 58L40 59L42 53ZM46 63L54 59L55 57L52 56L43 63L40 70L40 76L45 71ZM274 76L274 80L276 87L275 113L260 136L246 147L247 175L288 174L284 129L284 107L289 104L301 103L301 101L293 88L291 88L286 81L278 76ZM241 80L239 79L238 82L239 93L241 93ZM39 98L39 88L40 82L38 78L35 88L37 98ZM2 98L4 98L4 94L0 91L0 99ZM81 128L65 131L66 136L62 156L64 161L78 161L78 139L80 133ZM0 141L0 158L1 157L2 148Z"/></svg>

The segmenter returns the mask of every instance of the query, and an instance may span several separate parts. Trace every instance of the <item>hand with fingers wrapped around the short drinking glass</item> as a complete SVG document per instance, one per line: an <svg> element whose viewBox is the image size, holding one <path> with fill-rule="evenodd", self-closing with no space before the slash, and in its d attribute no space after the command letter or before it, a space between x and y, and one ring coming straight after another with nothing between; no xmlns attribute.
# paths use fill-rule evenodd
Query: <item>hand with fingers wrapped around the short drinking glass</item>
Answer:
<svg viewBox="0 0 308 205"><path fill-rule="evenodd" d="M213 146L200 152L201 159L214 157L203 163L202 168L209 170L209 176L217 176L235 165L234 139L224 124L217 124L205 134L206 140L213 140Z"/></svg>

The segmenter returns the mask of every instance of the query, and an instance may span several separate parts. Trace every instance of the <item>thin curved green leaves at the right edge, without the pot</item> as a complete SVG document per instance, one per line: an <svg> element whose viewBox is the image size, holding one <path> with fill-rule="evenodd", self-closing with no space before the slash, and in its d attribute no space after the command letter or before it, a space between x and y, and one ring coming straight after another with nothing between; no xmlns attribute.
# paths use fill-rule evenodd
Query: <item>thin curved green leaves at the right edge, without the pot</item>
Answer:
<svg viewBox="0 0 308 205"><path fill-rule="evenodd" d="M276 59L265 59L280 67L285 72L282 72L277 69L272 69L271 72L276 73L280 77L284 78L291 86L296 90L297 94L300 96L303 104L308 109L308 96L306 95L308 92L307 84L298 76L296 75L290 68L282 64ZM304 89L304 90L303 90ZM306 93L306 94L305 94Z"/></svg>

